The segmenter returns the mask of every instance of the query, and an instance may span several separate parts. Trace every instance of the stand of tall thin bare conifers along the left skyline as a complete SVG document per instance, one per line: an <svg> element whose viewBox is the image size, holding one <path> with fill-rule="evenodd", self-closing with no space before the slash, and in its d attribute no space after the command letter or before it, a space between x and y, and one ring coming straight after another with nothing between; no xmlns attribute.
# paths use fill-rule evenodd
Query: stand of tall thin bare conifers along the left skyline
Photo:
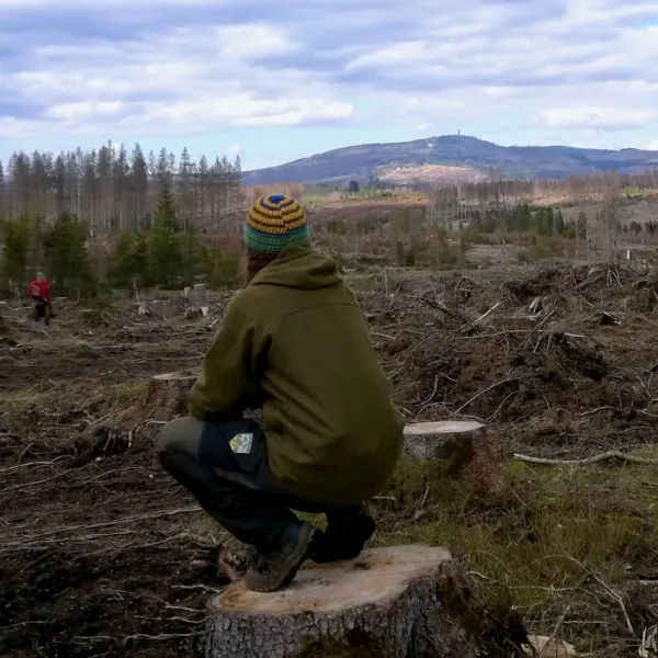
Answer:
<svg viewBox="0 0 658 658"><path fill-rule="evenodd" d="M197 164L183 149L177 167L167 149L147 158L139 144L128 155L112 141L89 152L15 152L7 168L0 163L0 218L29 213L50 220L68 212L89 223L90 235L144 229L166 188L175 195L183 227L213 224L242 207L240 159L217 157L209 167L205 156Z"/></svg>

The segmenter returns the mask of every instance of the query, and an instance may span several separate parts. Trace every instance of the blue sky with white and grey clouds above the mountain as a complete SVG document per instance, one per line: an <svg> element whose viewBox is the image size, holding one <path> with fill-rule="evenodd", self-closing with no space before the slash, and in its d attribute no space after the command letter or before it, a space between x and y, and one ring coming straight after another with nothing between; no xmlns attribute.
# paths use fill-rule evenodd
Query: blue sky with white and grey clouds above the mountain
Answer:
<svg viewBox="0 0 658 658"><path fill-rule="evenodd" d="M0 0L0 158L443 134L658 150L658 0Z"/></svg>

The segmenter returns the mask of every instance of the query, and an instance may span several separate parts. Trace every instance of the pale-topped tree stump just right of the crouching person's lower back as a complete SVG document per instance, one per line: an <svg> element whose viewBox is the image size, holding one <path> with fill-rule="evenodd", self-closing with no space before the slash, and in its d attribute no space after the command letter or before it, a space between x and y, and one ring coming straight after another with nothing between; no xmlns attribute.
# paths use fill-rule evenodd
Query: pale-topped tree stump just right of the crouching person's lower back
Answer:
<svg viewBox="0 0 658 658"><path fill-rule="evenodd" d="M402 455L446 460L447 474L469 481L483 496L500 496L507 490L502 456L481 422L443 420L408 424Z"/></svg>

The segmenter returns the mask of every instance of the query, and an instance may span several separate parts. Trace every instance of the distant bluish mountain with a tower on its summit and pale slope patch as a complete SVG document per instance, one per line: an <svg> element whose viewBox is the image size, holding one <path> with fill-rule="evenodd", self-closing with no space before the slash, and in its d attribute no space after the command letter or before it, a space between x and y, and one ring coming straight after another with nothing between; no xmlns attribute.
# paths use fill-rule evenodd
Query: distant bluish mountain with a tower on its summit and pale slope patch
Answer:
<svg viewBox="0 0 658 658"><path fill-rule="evenodd" d="M444 135L415 141L348 146L294 162L247 171L246 185L342 183L371 175L392 182L477 180L492 170L510 179L583 175L594 171L628 172L658 167L658 151L602 150L571 146L498 146L476 137Z"/></svg>

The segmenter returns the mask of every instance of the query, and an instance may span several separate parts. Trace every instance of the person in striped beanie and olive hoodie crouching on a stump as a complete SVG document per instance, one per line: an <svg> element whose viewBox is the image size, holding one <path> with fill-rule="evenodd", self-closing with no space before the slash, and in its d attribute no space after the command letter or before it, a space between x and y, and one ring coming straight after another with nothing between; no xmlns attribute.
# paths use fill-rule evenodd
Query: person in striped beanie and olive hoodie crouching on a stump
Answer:
<svg viewBox="0 0 658 658"><path fill-rule="evenodd" d="M404 419L337 263L310 249L292 198L261 198L245 226L247 286L227 306L189 396L157 442L162 467L259 564L247 587L286 587L305 559L356 557L366 500L389 480ZM261 420L242 418L261 409ZM326 513L325 533L291 510Z"/></svg>

